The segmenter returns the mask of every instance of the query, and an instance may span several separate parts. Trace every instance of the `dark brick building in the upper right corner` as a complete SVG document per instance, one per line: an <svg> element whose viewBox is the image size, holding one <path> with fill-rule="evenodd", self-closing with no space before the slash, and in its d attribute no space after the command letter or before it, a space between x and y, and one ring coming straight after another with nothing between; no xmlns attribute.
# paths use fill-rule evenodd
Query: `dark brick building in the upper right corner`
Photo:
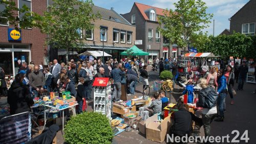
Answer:
<svg viewBox="0 0 256 144"><path fill-rule="evenodd" d="M233 31L255 35L256 23L256 0L250 0L230 20L230 34Z"/></svg>

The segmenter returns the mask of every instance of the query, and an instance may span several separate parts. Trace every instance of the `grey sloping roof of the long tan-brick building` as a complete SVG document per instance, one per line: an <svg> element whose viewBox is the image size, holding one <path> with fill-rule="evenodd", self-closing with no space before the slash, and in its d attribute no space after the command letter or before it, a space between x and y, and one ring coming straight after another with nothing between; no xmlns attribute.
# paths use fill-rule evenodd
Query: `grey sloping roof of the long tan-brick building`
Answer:
<svg viewBox="0 0 256 144"><path fill-rule="evenodd" d="M95 14L97 12L99 12L101 15L101 18L109 19L109 20L116 21L116 22L121 22L126 25L132 25L126 19L124 19L121 15L116 13L113 9L108 10L108 9L104 9L104 8L97 7L97 6L93 6L92 9L93 9L93 13L95 13Z"/></svg>

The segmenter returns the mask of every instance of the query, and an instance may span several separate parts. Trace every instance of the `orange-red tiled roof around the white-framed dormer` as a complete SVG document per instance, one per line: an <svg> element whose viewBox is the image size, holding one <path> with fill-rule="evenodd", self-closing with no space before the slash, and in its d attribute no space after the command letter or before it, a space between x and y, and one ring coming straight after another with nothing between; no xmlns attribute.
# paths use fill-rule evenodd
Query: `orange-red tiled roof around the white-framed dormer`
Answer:
<svg viewBox="0 0 256 144"><path fill-rule="evenodd" d="M164 9L160 9L160 8L156 8L156 7L152 7L152 6L148 6L148 5L144 5L144 4L140 4L140 3L134 3L136 5L136 7L139 9L140 13L142 14L142 16L145 18L145 20L150 20L146 13L145 13L145 10L147 9L151 9L151 8L154 8L156 10L156 14L157 15L162 15L164 16L163 14L163 11Z"/></svg>

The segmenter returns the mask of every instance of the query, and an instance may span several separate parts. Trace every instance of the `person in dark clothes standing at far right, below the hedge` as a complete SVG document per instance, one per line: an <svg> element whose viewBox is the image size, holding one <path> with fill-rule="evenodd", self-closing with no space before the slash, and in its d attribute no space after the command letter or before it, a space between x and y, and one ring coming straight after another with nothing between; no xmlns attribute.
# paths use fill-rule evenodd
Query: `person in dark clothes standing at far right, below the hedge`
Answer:
<svg viewBox="0 0 256 144"><path fill-rule="evenodd" d="M245 81L247 73L248 73L248 66L245 64L245 61L243 61L242 65L239 67L238 89L237 90L243 90L244 81Z"/></svg>

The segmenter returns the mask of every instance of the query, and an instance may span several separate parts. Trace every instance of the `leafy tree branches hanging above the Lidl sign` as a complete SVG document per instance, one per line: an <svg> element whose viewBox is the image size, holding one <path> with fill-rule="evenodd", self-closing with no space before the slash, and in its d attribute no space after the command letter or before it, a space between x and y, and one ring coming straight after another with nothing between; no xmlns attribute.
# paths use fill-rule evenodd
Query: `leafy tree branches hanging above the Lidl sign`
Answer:
<svg viewBox="0 0 256 144"><path fill-rule="evenodd" d="M0 0L0 5L4 6L4 10L0 11L0 22L14 26L16 30L25 28L42 28L44 25L44 16L32 12L26 5L17 8L13 0ZM22 17L19 15L23 14Z"/></svg>

